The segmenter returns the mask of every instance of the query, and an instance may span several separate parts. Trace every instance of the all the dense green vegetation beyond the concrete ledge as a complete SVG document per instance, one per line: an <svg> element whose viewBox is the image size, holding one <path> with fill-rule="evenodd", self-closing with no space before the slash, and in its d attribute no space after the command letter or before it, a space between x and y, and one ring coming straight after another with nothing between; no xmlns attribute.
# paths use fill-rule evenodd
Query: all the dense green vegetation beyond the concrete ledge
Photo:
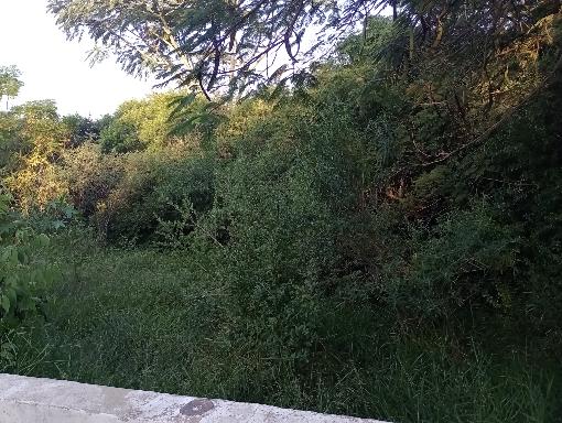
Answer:
<svg viewBox="0 0 562 423"><path fill-rule="evenodd" d="M236 26L249 33L229 75L212 66L223 44L182 73L153 62L177 58L170 46L144 63L104 37L102 2L51 3L126 67L208 89L95 121L51 101L1 112L0 369L397 422L559 419L559 2L395 2L395 20L363 15L361 33L270 84L245 73L267 8ZM147 35L159 2L144 3L115 7L147 48L231 31L214 20L190 39L206 12L162 2L176 36ZM318 12L275 4L293 25ZM257 46L291 56L283 25ZM41 278L11 276L32 265Z"/></svg>

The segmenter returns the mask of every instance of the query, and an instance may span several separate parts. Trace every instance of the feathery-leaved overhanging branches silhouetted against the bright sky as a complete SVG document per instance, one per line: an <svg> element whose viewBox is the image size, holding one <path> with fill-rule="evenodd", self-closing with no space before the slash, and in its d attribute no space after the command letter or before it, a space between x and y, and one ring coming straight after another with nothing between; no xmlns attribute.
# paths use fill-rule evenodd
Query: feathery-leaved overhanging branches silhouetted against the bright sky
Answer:
<svg viewBox="0 0 562 423"><path fill-rule="evenodd" d="M380 0L50 0L48 10L69 39L89 34L94 56L117 55L131 74L154 72L209 91L244 91L284 75L345 32ZM304 47L307 29L318 43ZM329 32L324 31L329 30ZM323 32L324 31L324 32ZM312 31L309 31L312 34ZM102 47L102 48L101 48ZM270 69L280 51L290 64Z"/></svg>

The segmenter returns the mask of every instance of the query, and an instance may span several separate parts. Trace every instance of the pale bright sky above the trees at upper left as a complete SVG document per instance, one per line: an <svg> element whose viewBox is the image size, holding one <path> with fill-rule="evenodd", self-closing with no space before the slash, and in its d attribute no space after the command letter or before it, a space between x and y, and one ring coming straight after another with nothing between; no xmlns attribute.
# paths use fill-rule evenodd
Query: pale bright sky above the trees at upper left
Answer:
<svg viewBox="0 0 562 423"><path fill-rule="evenodd" d="M153 82L128 75L111 58L90 67L93 45L67 41L46 0L0 0L0 66L15 65L25 84L10 105L54 99L61 115L98 118L152 91Z"/></svg>

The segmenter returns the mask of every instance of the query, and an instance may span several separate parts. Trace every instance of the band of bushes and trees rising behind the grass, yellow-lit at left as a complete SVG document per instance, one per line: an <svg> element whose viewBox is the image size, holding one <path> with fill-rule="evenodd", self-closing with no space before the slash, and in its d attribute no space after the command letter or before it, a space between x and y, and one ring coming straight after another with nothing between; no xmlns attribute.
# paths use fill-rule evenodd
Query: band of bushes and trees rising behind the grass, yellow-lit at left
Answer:
<svg viewBox="0 0 562 423"><path fill-rule="evenodd" d="M270 268L273 286L350 291L403 318L558 322L559 69L525 101L510 87L490 105L480 80L395 80L379 58L393 36L374 20L304 85L213 109L195 98L177 113L179 93L98 121L15 107L6 184L28 213L64 198L102 240L248 254L233 260ZM262 249L271 263L242 265Z"/></svg>

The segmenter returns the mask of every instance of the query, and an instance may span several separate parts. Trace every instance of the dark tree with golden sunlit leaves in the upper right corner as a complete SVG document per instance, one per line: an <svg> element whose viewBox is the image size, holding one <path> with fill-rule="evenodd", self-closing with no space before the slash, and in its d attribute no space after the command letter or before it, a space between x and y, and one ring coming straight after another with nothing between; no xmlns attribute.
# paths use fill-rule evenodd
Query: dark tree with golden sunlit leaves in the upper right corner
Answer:
<svg viewBox="0 0 562 423"><path fill-rule="evenodd" d="M418 140L410 147L422 167L486 142L560 77L559 0L401 6L402 30L386 56L395 80L408 86L410 138ZM420 149L432 133L434 142Z"/></svg>

